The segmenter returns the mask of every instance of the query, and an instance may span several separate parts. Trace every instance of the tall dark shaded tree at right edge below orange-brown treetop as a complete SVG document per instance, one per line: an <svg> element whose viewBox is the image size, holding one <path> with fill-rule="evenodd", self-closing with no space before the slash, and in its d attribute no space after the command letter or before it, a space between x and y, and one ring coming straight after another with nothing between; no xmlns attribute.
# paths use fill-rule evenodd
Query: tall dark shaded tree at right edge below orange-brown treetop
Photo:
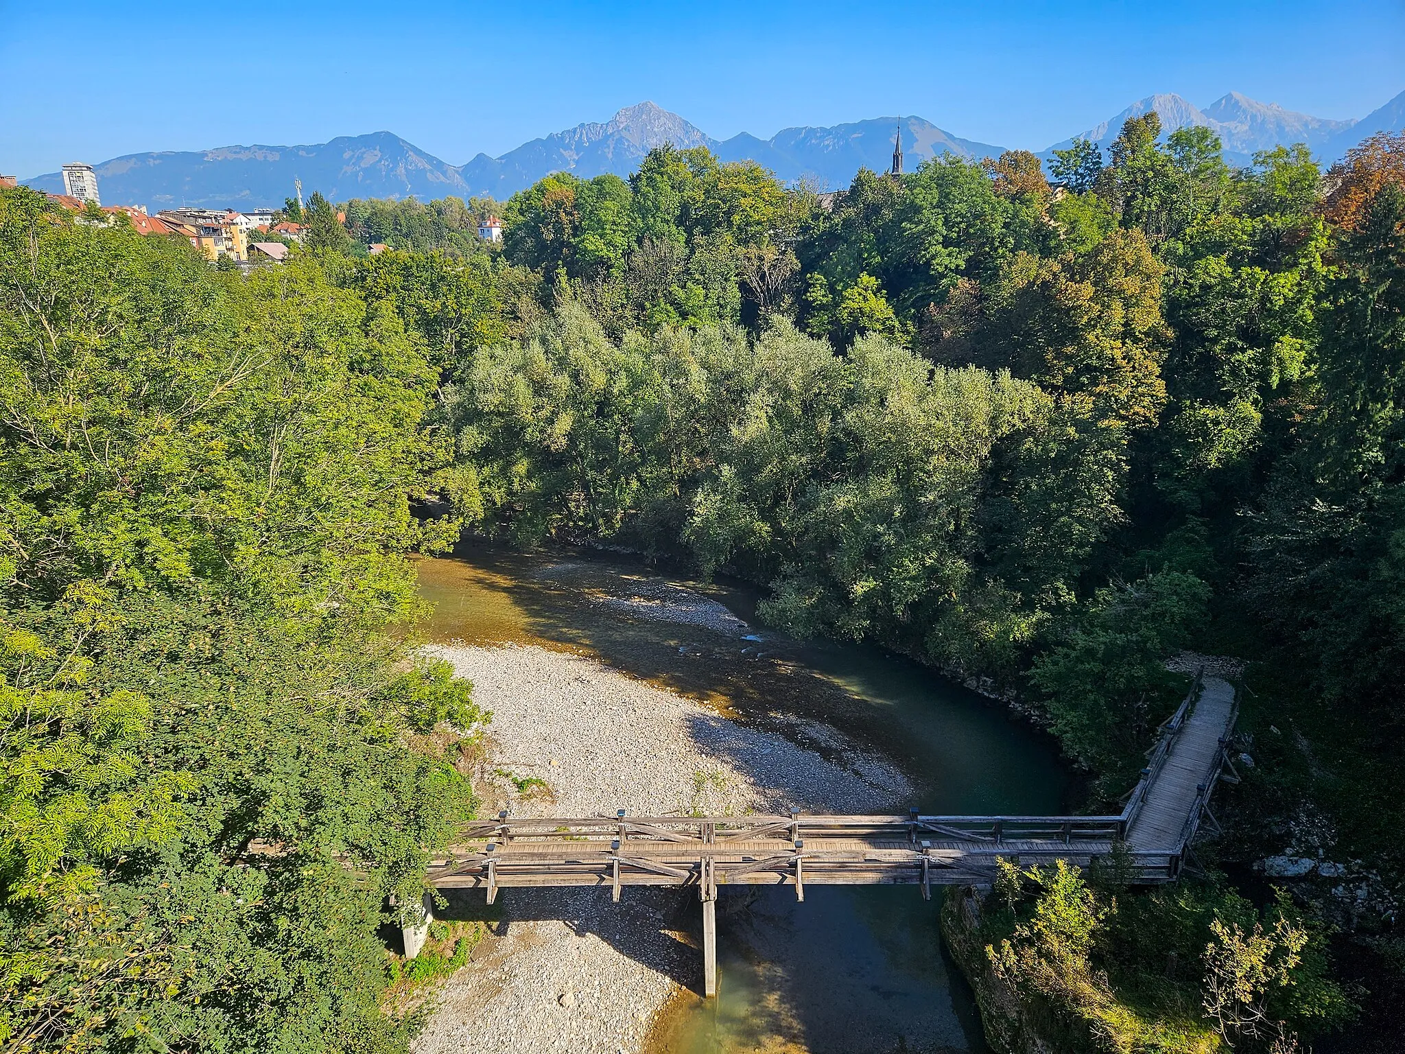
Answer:
<svg viewBox="0 0 1405 1054"><path fill-rule="evenodd" d="M1384 186L1340 239L1324 294L1319 408L1266 490L1255 593L1316 656L1333 700L1398 705L1405 188ZM1398 711L1395 711L1398 713Z"/></svg>

